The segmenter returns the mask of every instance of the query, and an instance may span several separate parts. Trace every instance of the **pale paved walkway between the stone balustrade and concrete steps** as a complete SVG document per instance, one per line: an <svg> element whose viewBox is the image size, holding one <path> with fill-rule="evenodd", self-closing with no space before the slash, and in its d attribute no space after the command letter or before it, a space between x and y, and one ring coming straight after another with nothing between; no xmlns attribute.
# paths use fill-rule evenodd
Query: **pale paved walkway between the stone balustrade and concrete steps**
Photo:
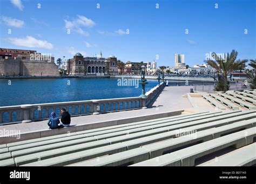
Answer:
<svg viewBox="0 0 256 184"><path fill-rule="evenodd" d="M153 103L152 108L145 110L132 110L123 112L113 112L98 115L84 115L80 117L72 117L72 125L94 124L96 122L110 121L124 118L140 117L143 115L159 114L164 112L178 111L189 109L191 112L209 111L210 108L197 108L193 111L192 105L187 98L182 97L183 94L190 92L190 86L169 86L165 87L163 92ZM206 103L205 103L206 104ZM212 108L214 111L214 108ZM21 133L48 130L48 120L30 122L28 124L13 124L0 126L0 130L18 130Z"/></svg>

